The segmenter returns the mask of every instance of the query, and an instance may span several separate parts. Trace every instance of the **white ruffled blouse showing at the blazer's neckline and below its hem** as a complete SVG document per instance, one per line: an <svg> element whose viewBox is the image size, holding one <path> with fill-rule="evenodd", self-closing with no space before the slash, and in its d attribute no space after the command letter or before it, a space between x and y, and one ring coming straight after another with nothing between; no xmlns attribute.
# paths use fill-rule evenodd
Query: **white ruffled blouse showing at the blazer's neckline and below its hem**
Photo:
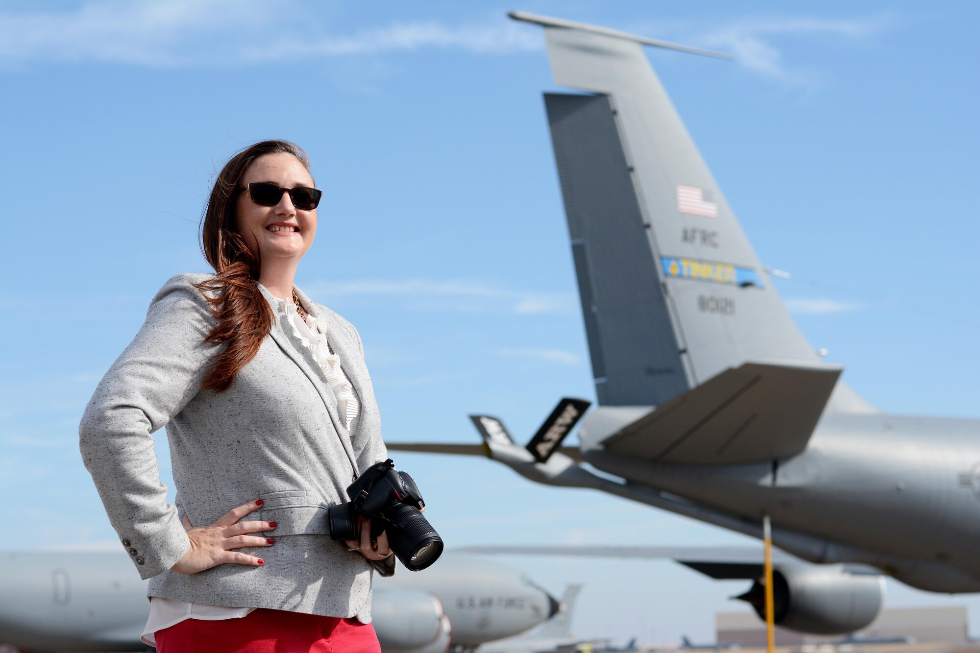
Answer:
<svg viewBox="0 0 980 653"><path fill-rule="evenodd" d="M261 284L260 284L261 285ZM326 326L321 320L313 317L309 310L304 321L296 310L296 304L284 299L274 298L273 310L284 313L289 323L292 335L300 345L313 354L313 359L319 366L319 371L326 379L330 391L337 400L337 410L347 431L357 431L361 418L361 401L358 399L351 379L340 368L340 358L330 350L326 340ZM141 639L149 646L157 645L156 632L170 628L185 619L202 621L221 621L224 619L239 619L251 613L255 608L224 608L214 605L200 605L174 601L173 599L154 596L150 599L150 618L143 628Z"/></svg>

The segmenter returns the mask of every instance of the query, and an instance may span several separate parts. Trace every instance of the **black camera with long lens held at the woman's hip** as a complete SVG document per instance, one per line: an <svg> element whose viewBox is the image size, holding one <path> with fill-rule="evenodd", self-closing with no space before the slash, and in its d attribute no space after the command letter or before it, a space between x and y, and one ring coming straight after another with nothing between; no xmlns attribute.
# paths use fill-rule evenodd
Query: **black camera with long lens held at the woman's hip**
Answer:
<svg viewBox="0 0 980 653"><path fill-rule="evenodd" d="M389 458L372 465L347 487L350 501L327 509L330 537L356 540L361 536L358 516L371 521L371 538L382 531L402 564L414 572L425 569L442 554L439 533L422 517L425 507L416 481L397 472Z"/></svg>

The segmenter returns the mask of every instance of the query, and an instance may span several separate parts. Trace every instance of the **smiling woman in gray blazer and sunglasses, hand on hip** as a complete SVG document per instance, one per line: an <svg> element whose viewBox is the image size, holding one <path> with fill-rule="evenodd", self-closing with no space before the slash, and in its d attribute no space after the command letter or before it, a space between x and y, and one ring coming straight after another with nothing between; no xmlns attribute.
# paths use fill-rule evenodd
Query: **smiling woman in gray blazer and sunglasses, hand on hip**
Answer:
<svg viewBox="0 0 980 653"><path fill-rule="evenodd" d="M333 541L327 506L384 460L357 329L293 285L317 233L306 154L280 140L224 166L202 240L216 275L177 275L80 425L91 473L142 578L144 641L179 651L377 651L382 533ZM167 503L152 433L167 427Z"/></svg>

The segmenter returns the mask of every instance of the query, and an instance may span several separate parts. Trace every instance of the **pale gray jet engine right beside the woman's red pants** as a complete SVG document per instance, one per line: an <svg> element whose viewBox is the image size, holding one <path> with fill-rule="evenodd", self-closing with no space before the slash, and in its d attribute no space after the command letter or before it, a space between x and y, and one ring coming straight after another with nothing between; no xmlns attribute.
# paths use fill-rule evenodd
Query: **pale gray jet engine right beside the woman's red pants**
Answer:
<svg viewBox="0 0 980 653"><path fill-rule="evenodd" d="M451 628L442 603L417 589L374 589L371 623L385 653L445 653Z"/></svg>

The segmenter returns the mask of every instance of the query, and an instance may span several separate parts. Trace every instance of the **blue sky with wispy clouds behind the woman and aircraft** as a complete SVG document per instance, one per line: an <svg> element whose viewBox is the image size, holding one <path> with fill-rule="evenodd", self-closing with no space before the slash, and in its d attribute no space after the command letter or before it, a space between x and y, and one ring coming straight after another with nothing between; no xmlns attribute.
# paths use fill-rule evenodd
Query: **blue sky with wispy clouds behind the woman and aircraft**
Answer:
<svg viewBox="0 0 980 653"><path fill-rule="evenodd" d="M980 418L973 3L0 2L0 518L8 548L118 546L77 453L98 379L156 289L206 271L209 180L285 137L313 161L298 283L351 320L390 440L529 436L594 396L541 92L511 9L731 52L649 51L814 347L886 411ZM161 467L169 478L166 438ZM741 543L482 459L402 454L450 544ZM668 562L510 559L577 631L710 640L744 583ZM890 605L980 600L889 582Z"/></svg>

